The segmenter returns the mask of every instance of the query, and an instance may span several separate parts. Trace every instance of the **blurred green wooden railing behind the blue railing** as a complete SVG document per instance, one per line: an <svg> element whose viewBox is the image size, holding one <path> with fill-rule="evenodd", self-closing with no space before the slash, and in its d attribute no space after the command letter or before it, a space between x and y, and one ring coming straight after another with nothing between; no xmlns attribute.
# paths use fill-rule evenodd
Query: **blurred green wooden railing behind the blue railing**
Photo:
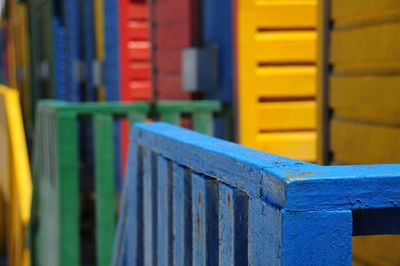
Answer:
<svg viewBox="0 0 400 266"><path fill-rule="evenodd" d="M94 241L97 265L110 265L118 193L115 188L115 122L147 119L181 123L190 117L193 129L213 133L215 101L147 103L66 103L43 101L36 112L33 154L33 211L31 237L34 265L80 265L80 143L93 143ZM80 141L82 121L91 121L93 139ZM90 155L89 155L90 156ZM95 258L94 258L95 257ZM90 261L90 263L93 263Z"/></svg>

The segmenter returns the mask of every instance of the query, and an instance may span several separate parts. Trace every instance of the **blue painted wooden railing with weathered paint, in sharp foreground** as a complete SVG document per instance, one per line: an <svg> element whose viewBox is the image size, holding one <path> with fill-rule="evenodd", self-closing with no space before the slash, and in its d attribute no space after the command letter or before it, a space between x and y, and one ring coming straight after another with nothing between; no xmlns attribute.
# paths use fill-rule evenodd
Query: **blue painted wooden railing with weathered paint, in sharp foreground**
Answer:
<svg viewBox="0 0 400 266"><path fill-rule="evenodd" d="M400 233L400 165L318 166L164 123L130 143L113 265L351 265Z"/></svg>

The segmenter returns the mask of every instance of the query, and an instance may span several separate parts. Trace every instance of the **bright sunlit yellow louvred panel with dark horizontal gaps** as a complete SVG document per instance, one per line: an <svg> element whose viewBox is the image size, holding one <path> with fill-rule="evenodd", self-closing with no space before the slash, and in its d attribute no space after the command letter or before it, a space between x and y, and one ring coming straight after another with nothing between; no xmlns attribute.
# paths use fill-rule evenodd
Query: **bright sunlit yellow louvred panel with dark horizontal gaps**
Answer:
<svg viewBox="0 0 400 266"><path fill-rule="evenodd" d="M241 144L316 160L316 15L312 0L238 0ZM293 141L285 144L288 135Z"/></svg>

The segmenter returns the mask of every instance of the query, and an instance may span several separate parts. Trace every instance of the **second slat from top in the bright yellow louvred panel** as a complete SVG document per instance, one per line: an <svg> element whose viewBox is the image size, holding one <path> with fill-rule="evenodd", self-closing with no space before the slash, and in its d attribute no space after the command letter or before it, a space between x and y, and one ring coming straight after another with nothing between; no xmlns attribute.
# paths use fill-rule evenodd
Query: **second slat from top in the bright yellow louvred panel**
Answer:
<svg viewBox="0 0 400 266"><path fill-rule="evenodd" d="M262 32L248 49L254 51L257 62L309 63L316 60L316 41L315 31Z"/></svg>

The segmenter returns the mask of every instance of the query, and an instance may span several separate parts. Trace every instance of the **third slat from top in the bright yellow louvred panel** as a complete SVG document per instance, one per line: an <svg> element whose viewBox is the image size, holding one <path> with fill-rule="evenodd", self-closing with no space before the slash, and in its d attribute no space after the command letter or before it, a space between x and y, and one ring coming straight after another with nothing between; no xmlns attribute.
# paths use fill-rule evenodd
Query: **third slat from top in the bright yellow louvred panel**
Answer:
<svg viewBox="0 0 400 266"><path fill-rule="evenodd" d="M260 67L254 81L255 90L261 98L313 97L316 91L316 67Z"/></svg>

